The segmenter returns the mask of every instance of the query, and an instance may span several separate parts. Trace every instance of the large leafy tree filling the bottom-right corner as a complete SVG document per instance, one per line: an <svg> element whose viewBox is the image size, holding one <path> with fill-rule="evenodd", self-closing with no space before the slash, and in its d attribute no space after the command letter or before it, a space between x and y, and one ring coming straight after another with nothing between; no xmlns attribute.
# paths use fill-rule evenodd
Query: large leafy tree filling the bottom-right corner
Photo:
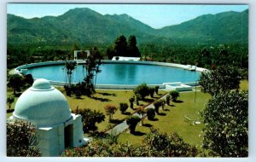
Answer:
<svg viewBox="0 0 256 162"><path fill-rule="evenodd" d="M203 147L217 156L248 155L248 94L231 90L212 96L202 115Z"/></svg>

